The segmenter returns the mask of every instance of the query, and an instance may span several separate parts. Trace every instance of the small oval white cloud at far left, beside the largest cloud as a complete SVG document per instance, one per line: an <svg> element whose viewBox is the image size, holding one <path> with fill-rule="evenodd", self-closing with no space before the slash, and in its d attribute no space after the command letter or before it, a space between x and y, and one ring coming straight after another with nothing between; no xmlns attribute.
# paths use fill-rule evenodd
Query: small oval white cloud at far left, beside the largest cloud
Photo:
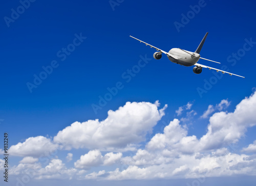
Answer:
<svg viewBox="0 0 256 186"><path fill-rule="evenodd" d="M23 143L12 145L9 149L10 154L15 156L46 156L57 150L58 145L51 142L50 139L37 136L28 138Z"/></svg>

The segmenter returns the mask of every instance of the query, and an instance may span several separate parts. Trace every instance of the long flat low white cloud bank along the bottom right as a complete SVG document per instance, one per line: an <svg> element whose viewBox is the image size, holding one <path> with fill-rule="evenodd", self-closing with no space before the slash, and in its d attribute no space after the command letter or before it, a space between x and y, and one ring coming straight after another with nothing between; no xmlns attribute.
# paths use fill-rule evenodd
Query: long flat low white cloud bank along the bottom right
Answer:
<svg viewBox="0 0 256 186"><path fill-rule="evenodd" d="M214 154L214 153L213 153ZM256 158L250 159L245 154L227 153L220 156L211 154L180 155L169 163L165 163L165 157L162 157L162 164L150 166L131 165L125 170L117 168L115 171L106 172L104 170L98 173L93 172L86 176L90 179L106 180L125 180L125 179L170 179L170 178L197 178L197 177L215 177L249 174L256 175L253 172ZM103 175L103 176L102 176Z"/></svg>

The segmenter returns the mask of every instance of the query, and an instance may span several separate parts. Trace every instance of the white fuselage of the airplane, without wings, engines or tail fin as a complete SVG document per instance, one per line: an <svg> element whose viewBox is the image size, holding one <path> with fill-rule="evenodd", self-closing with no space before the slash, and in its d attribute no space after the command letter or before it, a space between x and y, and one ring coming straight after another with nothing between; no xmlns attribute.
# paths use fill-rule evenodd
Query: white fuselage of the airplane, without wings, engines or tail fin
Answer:
<svg viewBox="0 0 256 186"><path fill-rule="evenodd" d="M195 65L200 59L199 54L195 52L187 51L187 50L181 50L179 48L172 48L168 53L172 54L177 58L177 59L174 59L171 56L168 56L168 59L171 62L180 64L183 66L187 66L187 67Z"/></svg>

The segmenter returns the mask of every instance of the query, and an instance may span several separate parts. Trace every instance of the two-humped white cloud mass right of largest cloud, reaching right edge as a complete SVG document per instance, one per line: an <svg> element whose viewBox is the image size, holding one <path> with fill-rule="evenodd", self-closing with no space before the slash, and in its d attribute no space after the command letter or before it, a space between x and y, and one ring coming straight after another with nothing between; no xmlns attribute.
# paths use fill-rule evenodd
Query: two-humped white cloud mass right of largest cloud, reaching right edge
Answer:
<svg viewBox="0 0 256 186"><path fill-rule="evenodd" d="M222 110L229 102L222 100L216 108ZM164 128L163 134L156 134L146 145L148 149L169 149L180 153L213 150L238 142L247 128L256 125L256 93L246 97L234 112L215 113L209 119L207 132L202 138L187 136L187 128L174 119ZM250 147L253 147L251 145Z"/></svg>

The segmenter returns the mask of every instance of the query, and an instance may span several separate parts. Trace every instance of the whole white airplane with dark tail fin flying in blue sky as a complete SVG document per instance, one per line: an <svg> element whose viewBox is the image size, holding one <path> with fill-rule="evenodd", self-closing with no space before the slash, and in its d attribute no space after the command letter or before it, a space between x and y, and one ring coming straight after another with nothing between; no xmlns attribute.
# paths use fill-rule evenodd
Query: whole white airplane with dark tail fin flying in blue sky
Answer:
<svg viewBox="0 0 256 186"><path fill-rule="evenodd" d="M193 72L196 73L196 74L200 74L202 72L202 68L208 68L208 69L214 69L217 72L221 71L223 74L228 73L229 75L236 75L236 76L239 76L239 77L243 77L241 75L233 74L233 73L226 72L226 71L223 71L223 70L220 70L220 69L217 69L217 68L212 68L212 67L208 67L206 65L201 65L201 64L197 63L199 59L219 63L219 62L216 62L216 61L212 61L212 60L202 58L199 55L207 35L208 35L208 32L205 34L203 40L201 41L201 43L199 44L199 46L198 46L198 48L196 49L195 52L183 50L181 48L172 48L172 49L169 50L169 52L166 52L166 51L163 51L163 50L161 50L161 49L159 49L159 48L157 48L157 47L155 47L151 44L145 43L144 41L141 41L141 40L139 40L139 39L137 39L133 36L130 36L130 37L146 44L146 46L148 45L151 48L155 48L157 50L157 52L155 52L153 56L156 60L160 60L162 58L162 54L165 54L165 55L167 55L168 59L173 63L177 63L177 64L187 66L187 67L195 65L195 67L193 68Z"/></svg>

